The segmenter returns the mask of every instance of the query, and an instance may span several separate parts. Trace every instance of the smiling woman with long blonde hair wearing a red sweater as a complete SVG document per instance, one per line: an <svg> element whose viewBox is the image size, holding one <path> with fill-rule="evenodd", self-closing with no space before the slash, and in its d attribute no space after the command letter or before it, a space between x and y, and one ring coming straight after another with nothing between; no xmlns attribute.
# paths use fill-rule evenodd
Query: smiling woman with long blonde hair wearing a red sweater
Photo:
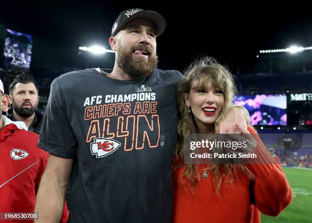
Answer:
<svg viewBox="0 0 312 223"><path fill-rule="evenodd" d="M208 57L190 66L177 89L181 118L172 167L172 222L260 222L259 211L277 216L292 202L283 171L250 125L235 128L252 134L249 144L254 142L258 164L184 164L188 134L220 133L235 94L232 75Z"/></svg>

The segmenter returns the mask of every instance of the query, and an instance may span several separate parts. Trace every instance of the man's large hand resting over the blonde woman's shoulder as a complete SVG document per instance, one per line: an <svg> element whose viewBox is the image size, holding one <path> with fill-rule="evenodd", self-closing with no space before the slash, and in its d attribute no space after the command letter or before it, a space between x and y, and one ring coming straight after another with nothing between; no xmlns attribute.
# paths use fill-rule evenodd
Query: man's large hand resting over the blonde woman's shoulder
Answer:
<svg viewBox="0 0 312 223"><path fill-rule="evenodd" d="M235 125L238 124L241 128L247 130L249 122L250 117L246 108L243 106L232 106L220 124L220 133L242 133Z"/></svg>

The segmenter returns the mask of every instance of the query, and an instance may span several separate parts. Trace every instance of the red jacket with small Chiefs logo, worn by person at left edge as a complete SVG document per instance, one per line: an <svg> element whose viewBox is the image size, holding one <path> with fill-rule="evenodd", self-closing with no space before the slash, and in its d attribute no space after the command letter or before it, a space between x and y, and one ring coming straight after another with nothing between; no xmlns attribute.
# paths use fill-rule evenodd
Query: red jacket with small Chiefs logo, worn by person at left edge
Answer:
<svg viewBox="0 0 312 223"><path fill-rule="evenodd" d="M47 162L48 153L37 147L38 135L17 126L12 122L0 129L0 213L34 212L36 194ZM60 222L67 219L65 204ZM33 220L4 222L26 223Z"/></svg>

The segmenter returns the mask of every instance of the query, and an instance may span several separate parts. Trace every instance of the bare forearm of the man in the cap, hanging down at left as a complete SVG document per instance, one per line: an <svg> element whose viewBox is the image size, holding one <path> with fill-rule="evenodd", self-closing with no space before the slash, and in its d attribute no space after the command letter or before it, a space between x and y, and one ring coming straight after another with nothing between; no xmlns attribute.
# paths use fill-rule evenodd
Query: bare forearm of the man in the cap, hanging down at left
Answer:
<svg viewBox="0 0 312 223"><path fill-rule="evenodd" d="M72 168L72 159L49 154L37 194L35 222L59 222L63 213L65 193Z"/></svg>

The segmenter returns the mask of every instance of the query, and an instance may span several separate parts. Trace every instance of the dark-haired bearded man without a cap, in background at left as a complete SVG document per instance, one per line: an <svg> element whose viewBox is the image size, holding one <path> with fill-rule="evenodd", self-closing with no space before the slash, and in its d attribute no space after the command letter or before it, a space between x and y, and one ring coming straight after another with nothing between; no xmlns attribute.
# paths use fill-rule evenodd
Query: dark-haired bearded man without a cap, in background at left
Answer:
<svg viewBox="0 0 312 223"><path fill-rule="evenodd" d="M28 74L15 77L10 87L10 109L6 116L13 121L23 121L28 131L39 135L43 115L37 111L39 103L38 85Z"/></svg>

